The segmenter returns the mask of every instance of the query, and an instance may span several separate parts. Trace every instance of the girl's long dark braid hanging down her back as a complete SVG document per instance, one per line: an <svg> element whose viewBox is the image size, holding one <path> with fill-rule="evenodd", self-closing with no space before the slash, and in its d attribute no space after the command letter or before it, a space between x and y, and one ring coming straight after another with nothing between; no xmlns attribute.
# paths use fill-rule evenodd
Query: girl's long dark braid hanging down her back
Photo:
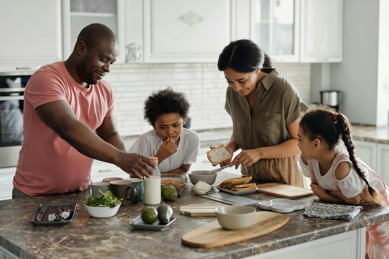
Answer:
<svg viewBox="0 0 389 259"><path fill-rule="evenodd" d="M361 177L362 180L368 186L369 193L370 193L371 197L373 198L374 202L376 204L384 207L386 205L384 199L382 198L382 196L380 195L380 193L378 192L378 190L376 188L373 188L372 186L370 186L370 183L366 179L366 175L365 175L363 169L359 166L359 162L356 159L355 152L354 152L355 146L354 146L354 142L352 141L349 120L345 116L343 116L343 114L338 114L337 124L339 127L339 131L342 135L342 140L344 142L344 145L346 146L347 151L349 152L350 161L352 162L352 166L354 166L359 177Z"/></svg>

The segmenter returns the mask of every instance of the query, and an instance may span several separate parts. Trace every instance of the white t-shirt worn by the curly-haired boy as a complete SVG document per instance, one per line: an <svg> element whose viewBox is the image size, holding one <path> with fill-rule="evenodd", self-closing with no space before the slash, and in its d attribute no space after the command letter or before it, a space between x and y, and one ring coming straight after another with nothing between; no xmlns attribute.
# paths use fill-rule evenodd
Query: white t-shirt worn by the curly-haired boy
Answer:
<svg viewBox="0 0 389 259"><path fill-rule="evenodd" d="M144 155L145 157L153 157L157 154L163 140L158 135L156 129L151 129L140 136L132 145L129 152ZM179 168L182 164L193 164L197 161L200 155L200 138L195 131L182 128L180 143L177 147L177 152L164 161L158 163L158 168L161 173Z"/></svg>

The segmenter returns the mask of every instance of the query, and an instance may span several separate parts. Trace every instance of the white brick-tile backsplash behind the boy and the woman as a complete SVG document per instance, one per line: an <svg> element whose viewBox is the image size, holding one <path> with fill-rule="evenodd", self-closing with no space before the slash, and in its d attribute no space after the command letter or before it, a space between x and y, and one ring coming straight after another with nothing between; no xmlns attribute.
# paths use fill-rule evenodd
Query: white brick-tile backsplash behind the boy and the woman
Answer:
<svg viewBox="0 0 389 259"><path fill-rule="evenodd" d="M296 86L309 104L310 64L277 63L273 67ZM144 100L153 91L168 86L187 94L191 129L232 126L224 110L228 85L216 63L115 64L105 80L114 92L115 117L122 136L140 135L152 128L143 118Z"/></svg>

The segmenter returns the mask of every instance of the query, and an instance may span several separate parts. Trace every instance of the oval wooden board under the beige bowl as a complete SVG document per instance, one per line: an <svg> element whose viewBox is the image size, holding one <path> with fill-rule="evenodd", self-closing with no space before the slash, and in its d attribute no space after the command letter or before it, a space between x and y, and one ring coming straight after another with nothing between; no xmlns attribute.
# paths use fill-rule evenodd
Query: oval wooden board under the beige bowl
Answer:
<svg viewBox="0 0 389 259"><path fill-rule="evenodd" d="M217 247L266 235L284 226L288 221L289 217L285 214L259 211L255 213L254 222L249 228L226 230L215 220L186 233L181 242L191 247Z"/></svg>

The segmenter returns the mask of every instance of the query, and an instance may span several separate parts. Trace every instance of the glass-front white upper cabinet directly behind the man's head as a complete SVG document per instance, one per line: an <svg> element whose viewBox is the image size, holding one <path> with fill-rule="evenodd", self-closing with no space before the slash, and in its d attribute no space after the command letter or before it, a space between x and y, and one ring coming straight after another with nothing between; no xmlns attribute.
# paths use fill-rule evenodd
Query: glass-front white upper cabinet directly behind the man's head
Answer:
<svg viewBox="0 0 389 259"><path fill-rule="evenodd" d="M119 56L116 64L125 62L124 0L63 0L65 59L72 53L81 30L92 23L108 26L117 36Z"/></svg>

